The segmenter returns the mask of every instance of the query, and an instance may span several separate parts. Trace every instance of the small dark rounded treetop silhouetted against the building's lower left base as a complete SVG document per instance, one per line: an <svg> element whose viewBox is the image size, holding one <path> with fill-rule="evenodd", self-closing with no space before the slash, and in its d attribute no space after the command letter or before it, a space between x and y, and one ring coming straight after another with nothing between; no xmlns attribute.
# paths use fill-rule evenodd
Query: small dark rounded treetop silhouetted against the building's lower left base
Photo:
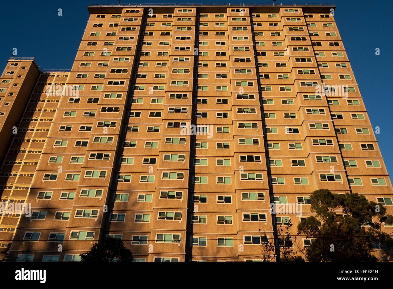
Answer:
<svg viewBox="0 0 393 289"><path fill-rule="evenodd" d="M124 247L123 241L118 238L105 238L99 243L94 243L89 252L80 254L82 262L130 262L131 250Z"/></svg>

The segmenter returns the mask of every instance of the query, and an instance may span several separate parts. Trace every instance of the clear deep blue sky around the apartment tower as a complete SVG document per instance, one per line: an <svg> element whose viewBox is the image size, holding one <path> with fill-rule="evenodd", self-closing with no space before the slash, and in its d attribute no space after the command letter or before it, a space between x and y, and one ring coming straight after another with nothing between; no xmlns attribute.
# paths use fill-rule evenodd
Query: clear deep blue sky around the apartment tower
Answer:
<svg viewBox="0 0 393 289"><path fill-rule="evenodd" d="M309 3L319 1L309 0ZM218 0L193 3L208 2L228 3ZM263 0L261 3L265 2L273 1ZM276 4L279 2L277 0ZM70 69L88 20L87 6L92 3L117 4L118 1L3 0L0 4L0 69L6 66L13 48L17 48L18 57L36 57L43 69ZM121 0L121 3L129 2ZM376 139L387 171L392 172L393 94L389 85L393 84L393 1L336 0L334 4L336 24L371 124L374 128L380 127ZM62 16L57 15L59 8L62 9ZM375 48L380 48L380 55L375 55ZM387 74L388 71L391 76Z"/></svg>

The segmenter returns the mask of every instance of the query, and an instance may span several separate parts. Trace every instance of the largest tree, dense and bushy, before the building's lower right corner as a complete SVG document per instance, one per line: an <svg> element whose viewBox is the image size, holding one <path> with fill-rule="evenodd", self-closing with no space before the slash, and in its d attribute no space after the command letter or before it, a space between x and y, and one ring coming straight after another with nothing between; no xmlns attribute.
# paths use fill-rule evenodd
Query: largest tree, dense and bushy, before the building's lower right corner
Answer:
<svg viewBox="0 0 393 289"><path fill-rule="evenodd" d="M298 234L314 239L305 249L309 261L376 261L369 252L379 240L378 221L386 213L382 204L357 193L338 195L325 189L314 191L310 202L316 215L298 225ZM391 250L393 239L386 233L382 235L388 244L385 249Z"/></svg>

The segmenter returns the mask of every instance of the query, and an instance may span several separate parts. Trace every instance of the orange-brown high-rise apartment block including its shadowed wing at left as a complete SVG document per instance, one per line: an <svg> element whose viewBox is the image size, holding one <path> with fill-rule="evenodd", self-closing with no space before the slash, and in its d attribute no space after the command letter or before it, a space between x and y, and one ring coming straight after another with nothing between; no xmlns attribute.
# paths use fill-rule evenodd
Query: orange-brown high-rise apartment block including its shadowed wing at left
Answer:
<svg viewBox="0 0 393 289"><path fill-rule="evenodd" d="M89 6L71 71L9 59L1 202L32 212L1 215L7 259L78 261L112 236L135 261L259 261L320 188L392 214L334 8Z"/></svg>

